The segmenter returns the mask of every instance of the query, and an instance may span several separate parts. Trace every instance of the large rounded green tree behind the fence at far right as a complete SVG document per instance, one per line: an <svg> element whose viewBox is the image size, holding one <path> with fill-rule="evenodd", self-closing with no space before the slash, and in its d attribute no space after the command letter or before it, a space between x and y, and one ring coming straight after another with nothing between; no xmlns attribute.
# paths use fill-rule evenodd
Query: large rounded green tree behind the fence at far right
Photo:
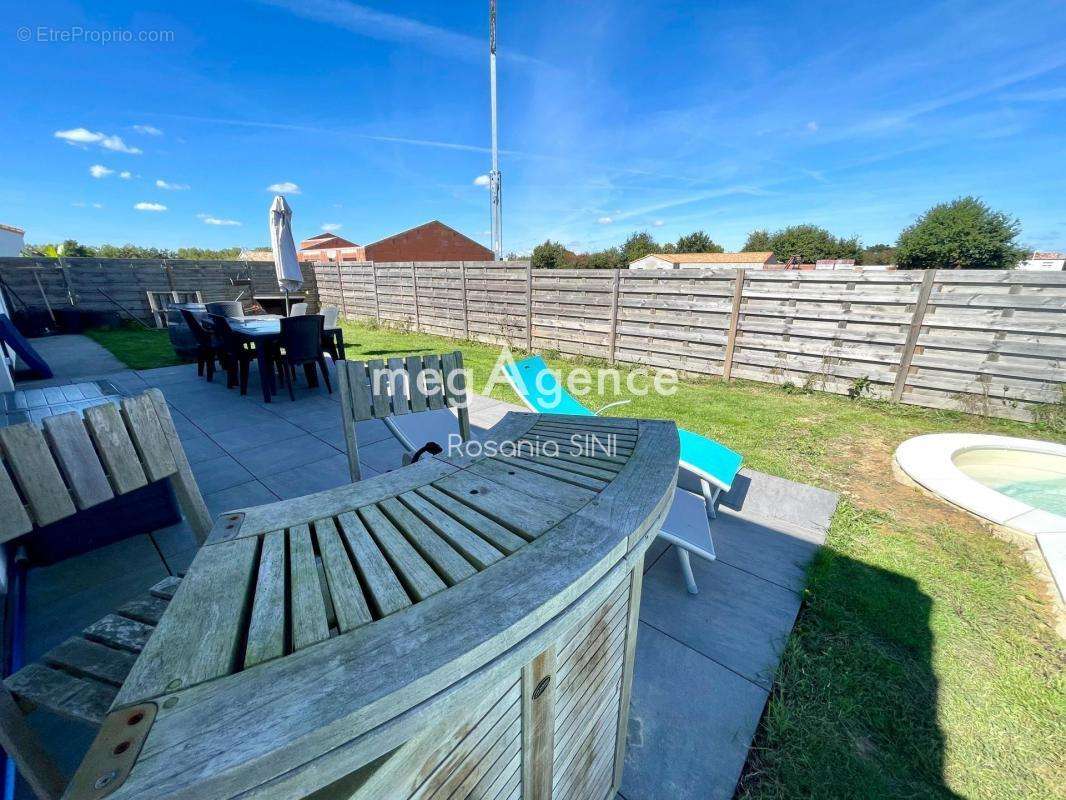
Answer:
<svg viewBox="0 0 1066 800"><path fill-rule="evenodd" d="M976 197L941 203L903 229L895 262L902 270L1010 270L1025 255L1021 223Z"/></svg>

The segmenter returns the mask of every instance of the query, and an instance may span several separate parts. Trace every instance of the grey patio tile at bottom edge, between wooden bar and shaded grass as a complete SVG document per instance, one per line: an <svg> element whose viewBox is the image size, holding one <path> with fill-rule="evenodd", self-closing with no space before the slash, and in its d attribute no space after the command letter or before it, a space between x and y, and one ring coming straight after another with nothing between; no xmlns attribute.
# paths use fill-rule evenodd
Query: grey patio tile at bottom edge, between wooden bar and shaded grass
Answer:
<svg viewBox="0 0 1066 800"><path fill-rule="evenodd" d="M731 798L766 697L760 687L642 623L623 796Z"/></svg>

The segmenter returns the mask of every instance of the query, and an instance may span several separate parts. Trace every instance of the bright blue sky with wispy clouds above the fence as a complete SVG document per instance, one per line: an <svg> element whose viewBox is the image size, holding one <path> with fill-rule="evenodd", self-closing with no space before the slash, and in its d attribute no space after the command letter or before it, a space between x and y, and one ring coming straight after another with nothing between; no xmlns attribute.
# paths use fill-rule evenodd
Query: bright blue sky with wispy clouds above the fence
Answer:
<svg viewBox="0 0 1066 800"><path fill-rule="evenodd" d="M499 1L505 250L891 242L964 194L1066 249L1062 0ZM0 222L29 241L263 244L291 183L297 237L487 242L487 2L3 5ZM168 41L56 41L79 27Z"/></svg>

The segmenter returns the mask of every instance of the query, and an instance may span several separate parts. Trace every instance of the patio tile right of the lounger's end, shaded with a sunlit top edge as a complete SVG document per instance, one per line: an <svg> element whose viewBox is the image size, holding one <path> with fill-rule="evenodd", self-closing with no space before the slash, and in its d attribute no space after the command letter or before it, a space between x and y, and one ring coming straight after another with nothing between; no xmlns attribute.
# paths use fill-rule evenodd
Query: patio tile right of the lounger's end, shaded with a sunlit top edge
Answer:
<svg viewBox="0 0 1066 800"><path fill-rule="evenodd" d="M721 508L711 535L718 561L794 592L807 585L807 565L821 544L809 529L780 519L745 518Z"/></svg>

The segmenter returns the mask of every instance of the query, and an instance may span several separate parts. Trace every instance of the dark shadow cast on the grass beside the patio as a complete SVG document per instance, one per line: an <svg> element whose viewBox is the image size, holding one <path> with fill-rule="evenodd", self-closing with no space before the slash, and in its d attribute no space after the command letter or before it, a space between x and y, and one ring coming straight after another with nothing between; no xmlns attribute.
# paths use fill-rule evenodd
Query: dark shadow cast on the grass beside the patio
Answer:
<svg viewBox="0 0 1066 800"><path fill-rule="evenodd" d="M959 798L943 781L931 611L912 579L824 547L737 798Z"/></svg>

